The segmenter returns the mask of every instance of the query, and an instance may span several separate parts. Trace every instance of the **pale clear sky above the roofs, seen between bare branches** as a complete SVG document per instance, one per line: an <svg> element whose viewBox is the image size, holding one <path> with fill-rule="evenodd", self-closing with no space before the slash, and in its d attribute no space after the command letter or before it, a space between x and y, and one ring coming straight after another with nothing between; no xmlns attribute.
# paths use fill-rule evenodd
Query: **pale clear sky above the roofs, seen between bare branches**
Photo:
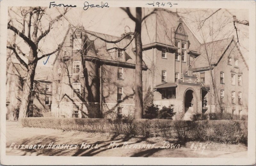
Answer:
<svg viewBox="0 0 256 166"><path fill-rule="evenodd" d="M17 10L17 9L13 9ZM151 12L152 8L143 8L143 14L147 14ZM195 34L196 38L199 40L199 42L203 43L211 41L212 38L210 38L209 34L210 31L216 29L216 37L214 37L214 40L221 39L221 37L231 37L230 35L235 35L236 32L234 30L233 26L233 15L236 15L236 18L238 20L249 20L249 15L247 10L237 10L237 9L221 9L220 11L216 12L212 17L205 21L204 27L202 30L198 29L198 21L203 20L204 18L207 18L210 16L213 12L215 12L218 9L172 9L173 12L178 12L180 16L182 16L182 19L187 24L187 26L190 28L190 30ZM17 12L17 11L16 11ZM131 12L133 15L135 15L135 9L131 8ZM53 9L47 9L46 11L47 15L42 21L45 27L47 27L48 20L50 18L54 18L56 15L59 14L59 12L56 10L56 8ZM19 19L15 14L11 13L10 18L17 18ZM67 21L68 20L68 21ZM99 10L99 8L90 8L89 10L84 11L82 8L71 8L70 11L66 14L66 18L62 18L61 21L56 23L53 28L51 29L51 32L48 34L47 37L44 38L44 41L42 41L40 44L40 49L44 53L48 53L53 51L57 48L58 43L61 43L63 37L65 36L65 33L68 28L68 24L71 23L72 25L82 25L86 30L95 31L103 34L113 35L113 36L121 36L121 34L125 32L130 32L134 30L135 23L128 18L127 14L120 8L102 8ZM224 28L221 29L223 32L217 31L217 29L220 26L224 26ZM17 24L18 26L18 24ZM212 26L212 29L209 28ZM247 59L248 50L247 42L248 42L248 26L245 25L238 25L238 35L240 39L240 49L242 53L244 54L245 59ZM228 33L228 36L223 35L227 34L226 32L232 31ZM202 37L202 35L207 37ZM143 36L142 36L143 37ZM203 39L204 38L204 39ZM21 39L16 39L16 43L21 44ZM143 44L143 43L142 43ZM28 51L28 47L24 46L22 47L24 49L24 52ZM38 62L39 66L52 66L52 62L55 59L55 55L51 55L47 61L47 63L44 65L43 61L46 62L48 57L43 58ZM24 59L26 61L26 59Z"/></svg>

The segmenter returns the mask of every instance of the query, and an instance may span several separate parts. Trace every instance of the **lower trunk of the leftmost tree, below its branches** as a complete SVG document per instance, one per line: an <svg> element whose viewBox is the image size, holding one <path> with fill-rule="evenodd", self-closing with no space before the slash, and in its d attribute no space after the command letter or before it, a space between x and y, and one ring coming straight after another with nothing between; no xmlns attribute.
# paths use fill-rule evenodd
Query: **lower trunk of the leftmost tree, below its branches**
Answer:
<svg viewBox="0 0 256 166"><path fill-rule="evenodd" d="M18 121L19 126L21 126L21 118L26 117L28 113L29 98L31 95L32 85L34 83L36 65L37 65L37 62L32 63L31 65L28 65L28 75L26 76L26 79L23 85L23 92L22 92L22 98L21 98L21 104L20 104L19 121Z"/></svg>

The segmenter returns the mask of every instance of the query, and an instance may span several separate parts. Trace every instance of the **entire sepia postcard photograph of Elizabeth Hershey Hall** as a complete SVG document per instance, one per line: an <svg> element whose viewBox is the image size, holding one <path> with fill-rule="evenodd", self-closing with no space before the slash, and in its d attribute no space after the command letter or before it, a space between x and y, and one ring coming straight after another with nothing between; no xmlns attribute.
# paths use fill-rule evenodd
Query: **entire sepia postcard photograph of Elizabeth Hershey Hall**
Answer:
<svg viewBox="0 0 256 166"><path fill-rule="evenodd" d="M248 158L248 8L34 2L6 6L6 156Z"/></svg>

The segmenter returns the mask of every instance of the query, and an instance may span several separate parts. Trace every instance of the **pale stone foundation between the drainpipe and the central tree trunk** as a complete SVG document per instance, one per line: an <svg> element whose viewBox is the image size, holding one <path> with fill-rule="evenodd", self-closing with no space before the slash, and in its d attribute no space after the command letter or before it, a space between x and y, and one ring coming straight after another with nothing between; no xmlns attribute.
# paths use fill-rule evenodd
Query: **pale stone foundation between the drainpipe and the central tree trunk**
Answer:
<svg viewBox="0 0 256 166"><path fill-rule="evenodd" d="M117 108L122 107L122 117L134 118L134 104L122 104L122 103L103 103L102 104L102 117L115 119L117 118Z"/></svg>

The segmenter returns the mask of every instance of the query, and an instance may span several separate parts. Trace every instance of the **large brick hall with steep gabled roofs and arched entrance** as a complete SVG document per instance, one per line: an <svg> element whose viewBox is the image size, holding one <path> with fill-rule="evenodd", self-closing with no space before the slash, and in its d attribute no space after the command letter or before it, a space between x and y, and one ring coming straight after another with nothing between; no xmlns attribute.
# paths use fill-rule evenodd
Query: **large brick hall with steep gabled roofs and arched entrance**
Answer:
<svg viewBox="0 0 256 166"><path fill-rule="evenodd" d="M248 66L234 37L199 43L171 12L157 11L146 21L147 27L142 26L143 95L151 87L154 103L174 104L181 117L215 111L215 101L218 109L248 113ZM131 37L106 43L91 34L112 41L118 37L82 29L69 29L54 60L52 112L58 117L133 116L135 45L129 44ZM210 95L213 86L217 100Z"/></svg>

